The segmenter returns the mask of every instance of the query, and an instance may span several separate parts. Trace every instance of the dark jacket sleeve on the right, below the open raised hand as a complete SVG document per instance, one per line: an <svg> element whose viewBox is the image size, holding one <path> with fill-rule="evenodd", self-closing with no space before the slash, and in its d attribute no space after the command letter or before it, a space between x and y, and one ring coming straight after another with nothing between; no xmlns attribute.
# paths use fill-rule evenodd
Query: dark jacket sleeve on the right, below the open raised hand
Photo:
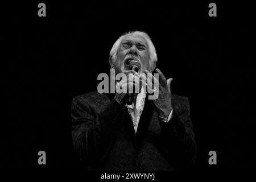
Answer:
<svg viewBox="0 0 256 182"><path fill-rule="evenodd" d="M195 164L197 150L188 98L181 104L181 111L174 110L172 114L170 122L159 121L168 159L174 169L191 168Z"/></svg>

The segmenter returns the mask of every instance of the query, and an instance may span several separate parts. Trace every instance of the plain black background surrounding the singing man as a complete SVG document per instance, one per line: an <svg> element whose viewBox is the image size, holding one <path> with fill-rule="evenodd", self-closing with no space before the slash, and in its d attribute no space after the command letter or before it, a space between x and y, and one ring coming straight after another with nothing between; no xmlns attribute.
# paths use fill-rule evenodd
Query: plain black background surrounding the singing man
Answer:
<svg viewBox="0 0 256 182"><path fill-rule="evenodd" d="M43 1L42 1L43 2ZM255 14L253 4L52 2L3 6L3 166L82 167L71 138L71 101L97 90L109 51L123 32L146 31L171 91L191 104L197 169L255 163ZM5 11L6 10L6 11ZM47 165L39 166L38 151ZM208 152L217 152L217 165Z"/></svg>

